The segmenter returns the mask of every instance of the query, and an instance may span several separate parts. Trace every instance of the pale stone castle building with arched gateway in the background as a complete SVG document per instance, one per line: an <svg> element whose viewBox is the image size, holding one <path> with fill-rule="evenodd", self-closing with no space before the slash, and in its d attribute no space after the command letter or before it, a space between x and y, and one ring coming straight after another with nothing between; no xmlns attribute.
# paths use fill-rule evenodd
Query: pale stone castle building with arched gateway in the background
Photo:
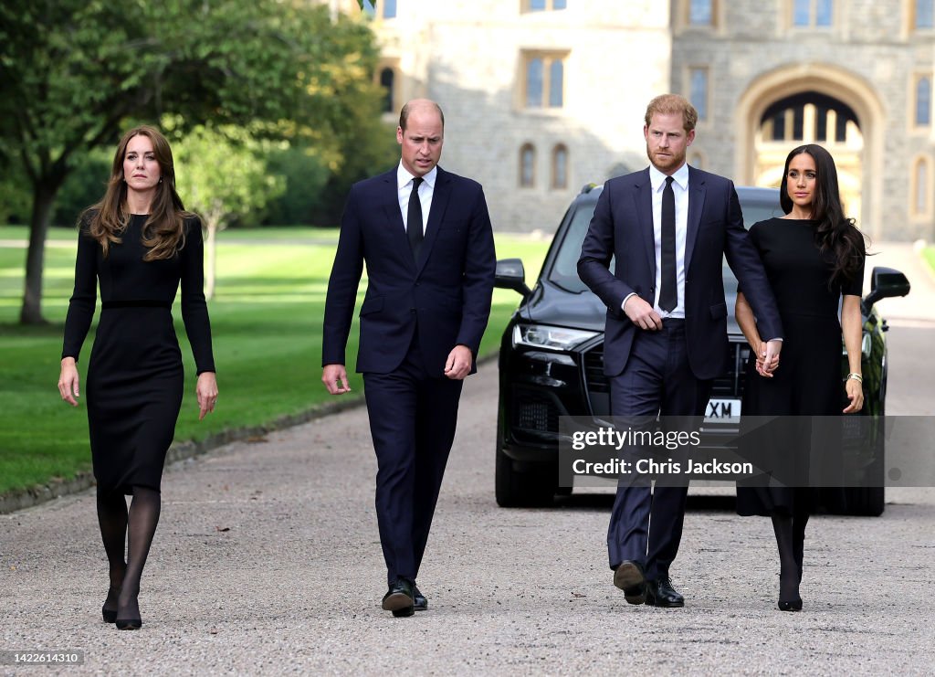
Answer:
<svg viewBox="0 0 935 677"><path fill-rule="evenodd" d="M356 0L328 0L360 12ZM551 232L583 184L646 166L655 95L698 108L689 163L777 186L826 146L873 238L935 238L935 0L379 0L386 116L445 111L442 166L496 229Z"/></svg>

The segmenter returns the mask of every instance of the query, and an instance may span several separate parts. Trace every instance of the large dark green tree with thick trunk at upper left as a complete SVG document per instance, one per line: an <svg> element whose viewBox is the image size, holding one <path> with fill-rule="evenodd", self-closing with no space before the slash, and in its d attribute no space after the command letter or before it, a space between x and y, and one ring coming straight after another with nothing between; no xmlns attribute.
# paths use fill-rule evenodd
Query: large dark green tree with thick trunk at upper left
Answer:
<svg viewBox="0 0 935 677"><path fill-rule="evenodd" d="M303 0L5 0L0 166L21 167L32 191L21 322L43 322L45 238L74 157L167 113L333 147L356 120L345 96L377 105L376 59L365 23Z"/></svg>

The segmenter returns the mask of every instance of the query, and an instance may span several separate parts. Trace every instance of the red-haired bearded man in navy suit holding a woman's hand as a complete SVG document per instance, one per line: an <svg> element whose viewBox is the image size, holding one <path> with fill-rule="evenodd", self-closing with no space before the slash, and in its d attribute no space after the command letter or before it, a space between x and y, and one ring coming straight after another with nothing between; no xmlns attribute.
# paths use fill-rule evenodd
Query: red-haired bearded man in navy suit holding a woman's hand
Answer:
<svg viewBox="0 0 935 677"><path fill-rule="evenodd" d="M582 281L608 308L611 413L683 416L694 429L712 380L727 367L723 257L754 307L760 334L772 338L761 355L767 369L782 346L775 299L747 240L733 183L685 164L697 121L682 96L650 102L643 136L651 166L607 181L578 261ZM684 605L669 566L688 489L667 483L671 478L657 479L654 490L645 479L618 483L607 542L613 583L631 604Z"/></svg>

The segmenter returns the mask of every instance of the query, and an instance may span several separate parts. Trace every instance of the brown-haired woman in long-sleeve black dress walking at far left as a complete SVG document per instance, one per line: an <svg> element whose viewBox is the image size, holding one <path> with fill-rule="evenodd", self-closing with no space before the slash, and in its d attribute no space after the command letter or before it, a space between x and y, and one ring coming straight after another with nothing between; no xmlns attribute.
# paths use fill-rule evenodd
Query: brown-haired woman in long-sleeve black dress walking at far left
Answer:
<svg viewBox="0 0 935 677"><path fill-rule="evenodd" d="M201 223L176 193L168 142L153 127L131 129L114 154L107 193L79 220L75 291L58 384L62 398L77 406L76 363L99 283L101 316L87 373L88 427L97 518L110 567L102 614L122 630L142 626L139 580L159 521L165 453L181 408L184 374L172 322L180 282L182 318L198 371L199 420L214 411L218 396L202 289L203 249ZM129 510L124 496L133 497Z"/></svg>

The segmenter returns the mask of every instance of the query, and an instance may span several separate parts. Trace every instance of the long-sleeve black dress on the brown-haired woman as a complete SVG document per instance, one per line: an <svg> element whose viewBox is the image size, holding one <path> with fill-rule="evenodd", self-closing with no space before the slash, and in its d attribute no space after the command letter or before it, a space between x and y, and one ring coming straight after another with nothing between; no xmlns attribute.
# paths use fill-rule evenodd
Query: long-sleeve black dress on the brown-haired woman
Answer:
<svg viewBox="0 0 935 677"><path fill-rule="evenodd" d="M185 239L172 258L144 261L147 216L134 214L108 255L82 223L75 291L65 319L63 357L78 360L94 316L101 315L88 364L85 395L94 478L102 492L158 491L165 453L175 436L184 373L172 303L181 282L181 312L198 373L214 371L205 302L201 223L185 220Z"/></svg>

